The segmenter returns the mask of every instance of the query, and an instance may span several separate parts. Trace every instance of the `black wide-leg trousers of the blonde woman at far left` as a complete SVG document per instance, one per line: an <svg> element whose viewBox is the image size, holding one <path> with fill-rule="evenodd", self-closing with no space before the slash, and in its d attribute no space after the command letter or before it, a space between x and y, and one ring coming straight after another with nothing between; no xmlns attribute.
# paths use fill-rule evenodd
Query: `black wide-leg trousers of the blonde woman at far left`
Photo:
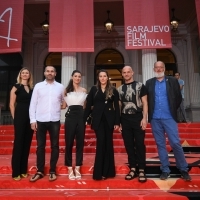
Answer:
<svg viewBox="0 0 200 200"><path fill-rule="evenodd" d="M26 174L28 170L28 157L30 152L33 130L27 115L14 119L15 138L12 152L12 177Z"/></svg>

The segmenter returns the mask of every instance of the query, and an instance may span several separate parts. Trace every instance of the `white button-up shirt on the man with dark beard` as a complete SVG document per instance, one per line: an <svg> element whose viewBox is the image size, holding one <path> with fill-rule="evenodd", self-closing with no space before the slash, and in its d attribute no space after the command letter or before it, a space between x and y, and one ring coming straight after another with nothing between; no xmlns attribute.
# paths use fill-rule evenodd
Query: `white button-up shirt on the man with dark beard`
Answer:
<svg viewBox="0 0 200 200"><path fill-rule="evenodd" d="M61 104L64 100L64 86L56 81L46 80L34 87L29 107L30 123L56 122L60 120Z"/></svg>

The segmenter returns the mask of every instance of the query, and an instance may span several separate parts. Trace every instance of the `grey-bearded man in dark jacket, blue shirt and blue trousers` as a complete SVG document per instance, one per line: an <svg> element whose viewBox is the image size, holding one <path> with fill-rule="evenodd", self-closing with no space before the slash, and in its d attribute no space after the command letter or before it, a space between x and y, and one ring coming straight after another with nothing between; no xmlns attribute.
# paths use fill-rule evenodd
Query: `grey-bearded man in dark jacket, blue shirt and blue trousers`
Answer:
<svg viewBox="0 0 200 200"><path fill-rule="evenodd" d="M188 164L180 144L177 126L177 108L182 96L178 81L171 76L165 76L165 64L162 61L154 64L155 77L146 81L148 91L148 121L151 123L153 135L157 144L161 162L161 180L170 175L169 158L166 149L165 133L173 149L176 166L185 181L190 181Z"/></svg>

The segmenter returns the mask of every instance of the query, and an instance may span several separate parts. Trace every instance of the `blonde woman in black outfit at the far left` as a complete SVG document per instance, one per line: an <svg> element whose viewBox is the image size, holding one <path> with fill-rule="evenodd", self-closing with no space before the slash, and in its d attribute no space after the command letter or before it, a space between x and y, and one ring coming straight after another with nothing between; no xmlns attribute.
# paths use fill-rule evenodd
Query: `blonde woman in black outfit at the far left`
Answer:
<svg viewBox="0 0 200 200"><path fill-rule="evenodd" d="M26 178L28 156L33 137L30 126L29 104L33 91L33 78L27 68L22 68L17 83L10 92L10 112L14 120L14 145L12 152L12 178L16 181Z"/></svg>

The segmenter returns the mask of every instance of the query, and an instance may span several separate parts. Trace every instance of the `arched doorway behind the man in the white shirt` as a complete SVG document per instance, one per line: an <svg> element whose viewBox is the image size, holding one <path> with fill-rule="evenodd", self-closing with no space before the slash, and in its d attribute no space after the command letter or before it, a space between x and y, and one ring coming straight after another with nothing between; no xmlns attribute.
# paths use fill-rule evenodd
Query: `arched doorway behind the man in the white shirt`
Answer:
<svg viewBox="0 0 200 200"><path fill-rule="evenodd" d="M50 53L44 62L44 68L46 66L54 66L56 68L56 81L61 83L61 62L62 53Z"/></svg>

